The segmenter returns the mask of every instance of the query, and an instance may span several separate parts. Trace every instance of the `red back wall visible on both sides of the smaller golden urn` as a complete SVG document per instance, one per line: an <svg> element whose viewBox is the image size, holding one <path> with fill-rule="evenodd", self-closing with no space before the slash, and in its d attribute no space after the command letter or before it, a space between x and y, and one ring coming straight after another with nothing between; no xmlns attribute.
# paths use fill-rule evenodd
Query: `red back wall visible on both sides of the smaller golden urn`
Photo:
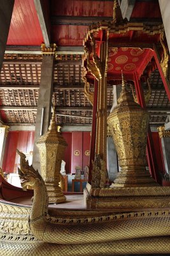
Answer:
<svg viewBox="0 0 170 256"><path fill-rule="evenodd" d="M16 150L29 153L34 147L34 131L10 131L6 139L6 148L3 160L4 172L17 172L19 156ZM64 161L66 162L66 173L75 173L75 167L81 169L89 165L89 156L85 151L90 150L90 132L62 132L67 142ZM79 150L80 155L75 156L74 150Z"/></svg>

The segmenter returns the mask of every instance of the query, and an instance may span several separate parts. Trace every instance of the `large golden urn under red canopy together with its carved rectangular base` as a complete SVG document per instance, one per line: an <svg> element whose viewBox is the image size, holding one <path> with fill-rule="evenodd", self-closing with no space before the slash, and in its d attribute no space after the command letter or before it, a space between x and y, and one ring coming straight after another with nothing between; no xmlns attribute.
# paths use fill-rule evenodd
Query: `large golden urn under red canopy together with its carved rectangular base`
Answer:
<svg viewBox="0 0 170 256"><path fill-rule="evenodd" d="M121 170L111 188L99 186L101 172L98 183L95 175L92 186L87 184L84 191L87 208L143 211L170 207L170 188L160 187L145 167L148 121L147 111L134 102L122 76L118 105L108 116Z"/></svg>

